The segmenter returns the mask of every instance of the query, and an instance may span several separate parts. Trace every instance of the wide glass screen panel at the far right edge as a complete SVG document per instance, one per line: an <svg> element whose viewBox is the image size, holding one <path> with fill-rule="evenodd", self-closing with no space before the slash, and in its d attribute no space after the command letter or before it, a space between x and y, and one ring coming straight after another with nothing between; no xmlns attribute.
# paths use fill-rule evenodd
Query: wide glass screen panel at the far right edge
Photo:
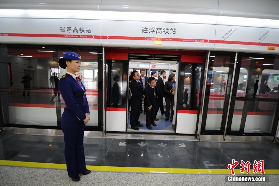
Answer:
<svg viewBox="0 0 279 186"><path fill-rule="evenodd" d="M238 54L226 136L275 136L278 62L275 55Z"/></svg>

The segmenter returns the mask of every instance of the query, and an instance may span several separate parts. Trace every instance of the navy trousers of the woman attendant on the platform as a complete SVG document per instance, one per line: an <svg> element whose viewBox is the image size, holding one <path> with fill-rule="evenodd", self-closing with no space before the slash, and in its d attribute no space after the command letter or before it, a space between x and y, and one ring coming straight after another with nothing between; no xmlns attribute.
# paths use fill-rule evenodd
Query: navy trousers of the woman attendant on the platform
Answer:
<svg viewBox="0 0 279 186"><path fill-rule="evenodd" d="M65 142L65 160L68 175L72 178L86 171L83 148L84 121L61 121Z"/></svg>

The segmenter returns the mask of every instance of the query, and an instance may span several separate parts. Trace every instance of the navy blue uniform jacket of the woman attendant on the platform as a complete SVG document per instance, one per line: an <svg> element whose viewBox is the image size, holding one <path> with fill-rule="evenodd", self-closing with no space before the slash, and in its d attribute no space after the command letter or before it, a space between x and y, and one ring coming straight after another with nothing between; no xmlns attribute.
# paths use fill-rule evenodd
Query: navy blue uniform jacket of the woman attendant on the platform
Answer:
<svg viewBox="0 0 279 186"><path fill-rule="evenodd" d="M73 76L66 74L66 77L65 75L61 77L58 88L66 104L62 120L68 122L85 120L85 113L90 113L89 106L88 101L86 101L86 104L83 104L83 90L77 80Z"/></svg>

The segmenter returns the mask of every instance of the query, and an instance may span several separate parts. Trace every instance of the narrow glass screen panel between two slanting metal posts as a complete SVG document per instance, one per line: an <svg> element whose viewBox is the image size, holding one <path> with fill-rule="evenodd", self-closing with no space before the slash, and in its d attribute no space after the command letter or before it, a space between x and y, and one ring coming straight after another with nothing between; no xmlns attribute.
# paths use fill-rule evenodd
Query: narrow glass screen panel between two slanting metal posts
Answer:
<svg viewBox="0 0 279 186"><path fill-rule="evenodd" d="M201 135L224 135L235 54L210 52Z"/></svg>

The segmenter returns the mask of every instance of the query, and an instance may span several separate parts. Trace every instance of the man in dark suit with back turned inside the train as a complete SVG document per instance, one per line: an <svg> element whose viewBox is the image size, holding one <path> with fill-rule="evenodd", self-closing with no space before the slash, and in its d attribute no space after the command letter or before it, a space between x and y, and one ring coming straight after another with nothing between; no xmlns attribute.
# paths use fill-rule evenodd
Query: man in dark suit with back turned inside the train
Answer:
<svg viewBox="0 0 279 186"><path fill-rule="evenodd" d="M164 111L164 103L163 103L163 97L164 97L164 80L163 78L166 77L166 71L161 71L160 72L161 76L158 78L157 82L156 82L156 87L158 90L158 99L156 101L156 111L155 111L155 121L158 121L158 119L156 118L156 115L158 113L158 110L160 108L161 110L161 114L164 115L165 111Z"/></svg>

